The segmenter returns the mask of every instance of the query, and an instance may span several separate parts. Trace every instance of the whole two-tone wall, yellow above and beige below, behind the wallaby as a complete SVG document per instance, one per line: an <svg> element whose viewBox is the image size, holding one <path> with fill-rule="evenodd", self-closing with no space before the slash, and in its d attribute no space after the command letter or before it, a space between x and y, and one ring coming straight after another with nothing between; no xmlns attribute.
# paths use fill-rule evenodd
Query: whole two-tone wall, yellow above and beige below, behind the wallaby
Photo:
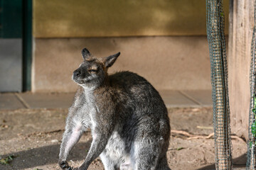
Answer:
<svg viewBox="0 0 256 170"><path fill-rule="evenodd" d="M33 0L33 36L34 92L75 91L83 47L156 89L211 88L205 0Z"/></svg>

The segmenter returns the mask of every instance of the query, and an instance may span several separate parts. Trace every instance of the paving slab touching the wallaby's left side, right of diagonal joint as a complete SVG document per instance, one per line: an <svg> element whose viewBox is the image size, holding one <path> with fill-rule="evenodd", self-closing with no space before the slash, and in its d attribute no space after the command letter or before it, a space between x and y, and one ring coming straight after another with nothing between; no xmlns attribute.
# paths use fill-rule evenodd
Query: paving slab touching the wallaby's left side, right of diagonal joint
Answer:
<svg viewBox="0 0 256 170"><path fill-rule="evenodd" d="M62 94L18 94L28 108L69 108L73 103L74 93Z"/></svg>

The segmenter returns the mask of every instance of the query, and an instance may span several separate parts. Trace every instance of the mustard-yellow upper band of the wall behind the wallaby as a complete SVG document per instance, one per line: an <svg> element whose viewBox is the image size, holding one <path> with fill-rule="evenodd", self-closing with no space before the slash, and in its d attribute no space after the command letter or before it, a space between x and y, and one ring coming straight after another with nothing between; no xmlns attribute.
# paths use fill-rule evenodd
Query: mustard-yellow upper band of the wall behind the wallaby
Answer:
<svg viewBox="0 0 256 170"><path fill-rule="evenodd" d="M36 38L206 35L205 0L34 0L33 18Z"/></svg>

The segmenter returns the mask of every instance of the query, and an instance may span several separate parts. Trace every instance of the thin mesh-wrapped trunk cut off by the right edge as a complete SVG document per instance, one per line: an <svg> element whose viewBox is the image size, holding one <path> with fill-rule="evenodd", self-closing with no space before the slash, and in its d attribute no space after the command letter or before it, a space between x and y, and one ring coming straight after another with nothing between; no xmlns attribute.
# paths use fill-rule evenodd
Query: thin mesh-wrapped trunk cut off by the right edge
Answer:
<svg viewBox="0 0 256 170"><path fill-rule="evenodd" d="M256 4L254 4L254 25L256 23ZM249 110L249 126L247 140L247 163L246 169L256 169L255 164L255 145L256 145L256 94L255 94L255 48L256 48L256 33L255 26L252 33L251 45L251 64L250 64L250 110Z"/></svg>

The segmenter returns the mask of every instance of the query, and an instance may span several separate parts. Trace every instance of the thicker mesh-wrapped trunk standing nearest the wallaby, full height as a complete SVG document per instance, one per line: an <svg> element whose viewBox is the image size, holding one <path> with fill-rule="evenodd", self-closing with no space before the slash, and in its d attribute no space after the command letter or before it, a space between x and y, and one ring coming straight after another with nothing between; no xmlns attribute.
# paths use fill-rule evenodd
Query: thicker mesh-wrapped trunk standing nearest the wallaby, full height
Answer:
<svg viewBox="0 0 256 170"><path fill-rule="evenodd" d="M215 168L232 169L223 1L206 0L206 18L213 98Z"/></svg>

